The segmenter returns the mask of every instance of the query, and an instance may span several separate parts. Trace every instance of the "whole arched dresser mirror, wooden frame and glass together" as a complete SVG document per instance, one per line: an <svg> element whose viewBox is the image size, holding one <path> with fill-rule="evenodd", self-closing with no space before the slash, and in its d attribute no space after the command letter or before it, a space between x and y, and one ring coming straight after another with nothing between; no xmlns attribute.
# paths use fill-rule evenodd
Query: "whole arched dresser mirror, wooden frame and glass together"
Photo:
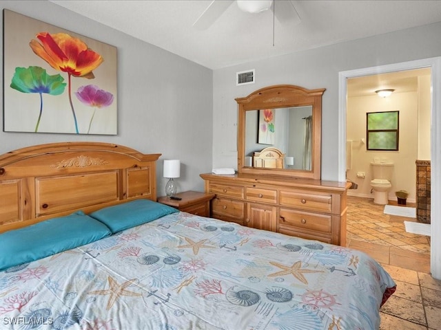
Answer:
<svg viewBox="0 0 441 330"><path fill-rule="evenodd" d="M238 173L320 179L324 92L274 85L236 98Z"/></svg>

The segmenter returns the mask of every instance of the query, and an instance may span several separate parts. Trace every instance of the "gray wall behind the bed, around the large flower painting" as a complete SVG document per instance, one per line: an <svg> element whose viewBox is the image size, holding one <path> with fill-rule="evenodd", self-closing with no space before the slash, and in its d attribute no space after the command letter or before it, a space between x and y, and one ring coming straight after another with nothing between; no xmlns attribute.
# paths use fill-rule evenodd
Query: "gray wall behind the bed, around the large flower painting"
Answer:
<svg viewBox="0 0 441 330"><path fill-rule="evenodd" d="M203 191L199 174L212 169L212 70L49 1L0 1L0 8L117 47L119 102L118 135L112 136L5 133L1 116L0 154L52 142L122 144L142 153L162 153L156 176L158 196L165 195L167 181L162 177L162 159L181 159L178 190ZM1 20L3 26L3 15ZM8 77L4 84L10 84ZM0 93L3 100L3 90Z"/></svg>

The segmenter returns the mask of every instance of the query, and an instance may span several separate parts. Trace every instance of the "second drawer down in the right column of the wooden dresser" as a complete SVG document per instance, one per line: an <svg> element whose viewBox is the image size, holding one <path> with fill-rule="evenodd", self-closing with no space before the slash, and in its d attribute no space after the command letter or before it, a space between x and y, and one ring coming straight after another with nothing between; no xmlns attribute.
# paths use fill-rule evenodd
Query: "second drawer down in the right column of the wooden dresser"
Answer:
<svg viewBox="0 0 441 330"><path fill-rule="evenodd" d="M311 230L320 232L322 234L331 234L332 232L332 217L327 214L316 214L309 212L300 212L280 208L279 228L294 229L294 230Z"/></svg>

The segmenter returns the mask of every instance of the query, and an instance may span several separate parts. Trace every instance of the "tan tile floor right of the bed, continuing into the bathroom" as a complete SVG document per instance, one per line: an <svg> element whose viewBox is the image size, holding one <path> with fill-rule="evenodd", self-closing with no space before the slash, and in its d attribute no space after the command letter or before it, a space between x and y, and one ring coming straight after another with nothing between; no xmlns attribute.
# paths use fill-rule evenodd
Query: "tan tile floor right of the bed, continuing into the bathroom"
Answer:
<svg viewBox="0 0 441 330"><path fill-rule="evenodd" d="M380 309L380 330L440 330L441 281L429 274L430 237L406 232L404 220L416 219L383 210L372 199L348 197L347 246L371 255L397 283Z"/></svg>

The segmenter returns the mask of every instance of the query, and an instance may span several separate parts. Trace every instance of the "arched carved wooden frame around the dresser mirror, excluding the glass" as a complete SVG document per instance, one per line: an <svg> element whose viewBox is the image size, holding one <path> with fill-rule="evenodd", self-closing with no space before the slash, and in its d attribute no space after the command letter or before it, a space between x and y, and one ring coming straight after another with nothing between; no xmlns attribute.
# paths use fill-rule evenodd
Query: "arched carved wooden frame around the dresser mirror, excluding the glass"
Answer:
<svg viewBox="0 0 441 330"><path fill-rule="evenodd" d="M236 98L236 102L238 103L238 173L320 179L322 95L324 92L324 88L305 89L295 85L274 85L258 89L245 98ZM247 111L302 107L307 105L312 106L311 136L313 140L311 142L311 170L245 166L245 116Z"/></svg>

